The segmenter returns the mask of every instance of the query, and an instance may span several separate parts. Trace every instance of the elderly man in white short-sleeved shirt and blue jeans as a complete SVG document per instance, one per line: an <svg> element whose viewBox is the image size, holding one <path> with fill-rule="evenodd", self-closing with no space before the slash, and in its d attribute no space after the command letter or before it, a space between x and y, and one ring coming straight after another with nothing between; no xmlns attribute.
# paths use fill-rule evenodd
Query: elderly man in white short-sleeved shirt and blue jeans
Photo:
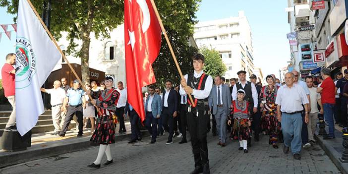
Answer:
<svg viewBox="0 0 348 174"><path fill-rule="evenodd" d="M305 123L308 122L308 99L303 88L294 84L295 76L288 72L285 74L286 85L281 86L278 90L276 104L277 118L282 123L282 131L284 135L283 152L288 154L289 147L293 158L301 159L301 129L302 129L302 105L305 108Z"/></svg>

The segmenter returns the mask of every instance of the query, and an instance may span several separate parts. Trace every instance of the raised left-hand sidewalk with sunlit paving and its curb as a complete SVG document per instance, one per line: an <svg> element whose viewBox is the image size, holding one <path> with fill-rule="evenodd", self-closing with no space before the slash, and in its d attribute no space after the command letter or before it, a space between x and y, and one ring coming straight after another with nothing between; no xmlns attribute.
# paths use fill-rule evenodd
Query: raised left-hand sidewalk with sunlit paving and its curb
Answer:
<svg viewBox="0 0 348 174"><path fill-rule="evenodd" d="M130 139L131 129L130 122L125 122L126 134L116 133L115 140L123 141ZM116 127L118 132L118 125ZM90 137L92 133L89 130L84 130L82 137L76 137L77 132L74 129L68 131L65 137L51 135L49 133L38 133L32 135L32 145L27 150L17 152L5 152L0 150L0 168L11 166L27 161L48 158L60 154L84 150L92 147ZM148 135L147 131L142 131L143 136Z"/></svg>

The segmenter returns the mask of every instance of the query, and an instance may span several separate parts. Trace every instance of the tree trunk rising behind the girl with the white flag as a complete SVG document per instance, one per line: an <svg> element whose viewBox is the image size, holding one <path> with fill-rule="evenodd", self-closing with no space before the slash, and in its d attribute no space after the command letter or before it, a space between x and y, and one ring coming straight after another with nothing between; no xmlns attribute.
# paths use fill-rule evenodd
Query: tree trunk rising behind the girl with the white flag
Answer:
<svg viewBox="0 0 348 174"><path fill-rule="evenodd" d="M89 44L91 38L89 37L90 32L84 32L82 36L82 48L81 48L81 74L82 74L82 83L90 83L89 81Z"/></svg>

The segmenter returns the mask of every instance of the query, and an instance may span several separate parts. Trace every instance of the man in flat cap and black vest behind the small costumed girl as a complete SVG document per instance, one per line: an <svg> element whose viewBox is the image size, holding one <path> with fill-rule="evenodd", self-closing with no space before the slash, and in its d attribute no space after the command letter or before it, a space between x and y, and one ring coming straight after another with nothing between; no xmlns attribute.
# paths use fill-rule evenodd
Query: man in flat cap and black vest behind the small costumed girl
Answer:
<svg viewBox="0 0 348 174"><path fill-rule="evenodd" d="M232 100L237 99L237 91L239 89L242 89L245 91L244 100L249 102L249 111L250 111L250 118L252 120L252 116L257 112L257 106L258 106L258 95L257 90L254 83L251 83L245 79L246 71L240 70L237 72L239 82L236 83L233 86L232 90ZM248 145L250 146L250 139L248 140Z"/></svg>

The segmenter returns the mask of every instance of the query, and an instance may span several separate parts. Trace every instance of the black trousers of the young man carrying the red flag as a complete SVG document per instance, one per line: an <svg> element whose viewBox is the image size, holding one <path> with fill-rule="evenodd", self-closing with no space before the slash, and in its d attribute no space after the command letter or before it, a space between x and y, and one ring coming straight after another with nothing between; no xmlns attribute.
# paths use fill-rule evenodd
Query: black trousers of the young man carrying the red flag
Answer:
<svg viewBox="0 0 348 174"><path fill-rule="evenodd" d="M187 107L186 107L186 111ZM207 146L207 124L210 119L209 108L205 110L197 110L191 108L191 112L187 112L188 130L191 136L191 146L196 166L202 166L209 163L208 146Z"/></svg>

